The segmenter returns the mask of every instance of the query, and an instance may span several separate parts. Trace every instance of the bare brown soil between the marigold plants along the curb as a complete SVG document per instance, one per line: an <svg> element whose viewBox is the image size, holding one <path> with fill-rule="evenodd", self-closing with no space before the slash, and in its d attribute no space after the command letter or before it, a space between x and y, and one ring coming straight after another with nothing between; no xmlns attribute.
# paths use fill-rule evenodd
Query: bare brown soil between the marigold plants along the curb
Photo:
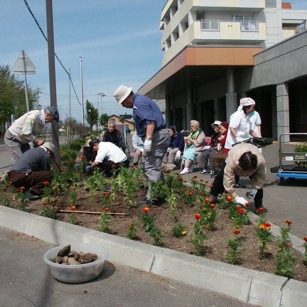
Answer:
<svg viewBox="0 0 307 307"><path fill-rule="evenodd" d="M9 190L9 189L7 189ZM17 208L17 200L13 200L11 192L6 192L10 197L10 206ZM91 211L100 212L102 209L101 205L101 191L95 191L95 201L92 201L91 193L87 192L84 187L78 188L78 201L76 203L76 210L78 211ZM124 195L118 194L114 202L109 202L107 207L108 212L125 213L125 215L114 215L112 221L109 223L111 226L110 234L126 237L128 231L128 225L131 221L134 221L137 225L137 240L146 244L153 244L153 239L149 237L149 233L145 232L142 223L140 222L140 215L143 213L143 207L137 205L136 201L143 199L146 195L146 190L142 189L135 194L135 201L130 206L123 201ZM59 195L55 195L55 201L57 209L71 210L71 205L67 194L64 192ZM198 207L189 207L184 204L183 200L180 199L177 203L177 219L176 221L170 215L170 210L167 203L162 206L148 206L150 211L149 215L155 216L155 225L157 228L162 230L163 233L163 247L173 249L183 253L194 254L194 246L191 244L191 236L189 233L193 231L195 219L194 215L198 212ZM32 201L29 203L28 212L32 214L39 214L43 208L42 201ZM216 205L218 209L218 204ZM206 240L206 248L204 250L203 257L227 262L224 259L224 253L229 251L227 239L233 237L234 226L231 224L231 220L228 216L228 210L221 210L221 215L217 217L216 229L211 231L210 238ZM80 214L75 213L76 225L99 230L99 214ZM70 223L70 213L58 213L58 220ZM186 226L187 233L182 238L176 238L172 234L172 228L174 225L181 223ZM256 226L253 224L243 226L239 234L240 238L244 240L244 251L242 254L242 262L239 264L241 267L248 269L254 269L262 272L273 273L276 268L276 261L274 258L277 243L270 242L268 245L270 248L267 249L266 258L259 259L258 250L258 238L256 236ZM295 251L293 251L295 253ZM296 254L297 260L293 266L295 275L294 279L300 281L307 281L307 267L304 258L300 254Z"/></svg>

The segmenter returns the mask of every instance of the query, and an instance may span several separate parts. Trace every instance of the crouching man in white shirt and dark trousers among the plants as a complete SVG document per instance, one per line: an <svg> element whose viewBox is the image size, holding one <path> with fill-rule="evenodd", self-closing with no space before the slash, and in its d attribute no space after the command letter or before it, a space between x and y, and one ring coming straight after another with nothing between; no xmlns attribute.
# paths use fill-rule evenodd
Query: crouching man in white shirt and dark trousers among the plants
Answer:
<svg viewBox="0 0 307 307"><path fill-rule="evenodd" d="M91 149L97 151L97 156L92 165L86 166L86 172L90 172L96 167L101 168L106 177L111 176L113 168L118 169L121 164L124 167L129 167L129 159L126 154L115 144L111 142L100 142L98 139L93 139L90 142Z"/></svg>

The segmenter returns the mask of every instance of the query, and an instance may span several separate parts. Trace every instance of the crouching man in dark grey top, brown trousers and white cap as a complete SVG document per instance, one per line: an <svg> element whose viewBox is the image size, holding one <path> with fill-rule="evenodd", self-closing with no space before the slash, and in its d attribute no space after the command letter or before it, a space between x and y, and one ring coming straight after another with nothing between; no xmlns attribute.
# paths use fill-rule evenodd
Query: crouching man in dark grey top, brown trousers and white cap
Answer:
<svg viewBox="0 0 307 307"><path fill-rule="evenodd" d="M51 159L54 158L55 146L46 142L39 147L27 150L21 155L8 172L12 185L29 189L29 200L41 199L45 182L53 180L50 168Z"/></svg>

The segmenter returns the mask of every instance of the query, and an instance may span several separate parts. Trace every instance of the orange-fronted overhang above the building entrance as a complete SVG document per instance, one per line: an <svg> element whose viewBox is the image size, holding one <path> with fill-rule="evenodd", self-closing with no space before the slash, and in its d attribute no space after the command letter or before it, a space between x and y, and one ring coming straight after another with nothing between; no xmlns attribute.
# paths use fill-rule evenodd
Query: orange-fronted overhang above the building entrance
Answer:
<svg viewBox="0 0 307 307"><path fill-rule="evenodd" d="M254 65L261 47L187 46L160 71L143 84L138 92L151 99L165 99L166 93L185 92L225 77L228 69Z"/></svg>

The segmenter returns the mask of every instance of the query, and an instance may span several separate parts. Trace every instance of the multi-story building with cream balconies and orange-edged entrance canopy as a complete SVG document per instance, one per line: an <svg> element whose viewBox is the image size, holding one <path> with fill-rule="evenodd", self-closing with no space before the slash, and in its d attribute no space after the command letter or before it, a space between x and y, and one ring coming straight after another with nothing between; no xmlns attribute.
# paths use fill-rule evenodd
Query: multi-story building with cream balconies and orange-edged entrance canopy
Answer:
<svg viewBox="0 0 307 307"><path fill-rule="evenodd" d="M139 92L165 99L167 124L183 129L197 119L210 134L249 96L264 136L307 132L306 19L280 0L168 0L162 69Z"/></svg>

